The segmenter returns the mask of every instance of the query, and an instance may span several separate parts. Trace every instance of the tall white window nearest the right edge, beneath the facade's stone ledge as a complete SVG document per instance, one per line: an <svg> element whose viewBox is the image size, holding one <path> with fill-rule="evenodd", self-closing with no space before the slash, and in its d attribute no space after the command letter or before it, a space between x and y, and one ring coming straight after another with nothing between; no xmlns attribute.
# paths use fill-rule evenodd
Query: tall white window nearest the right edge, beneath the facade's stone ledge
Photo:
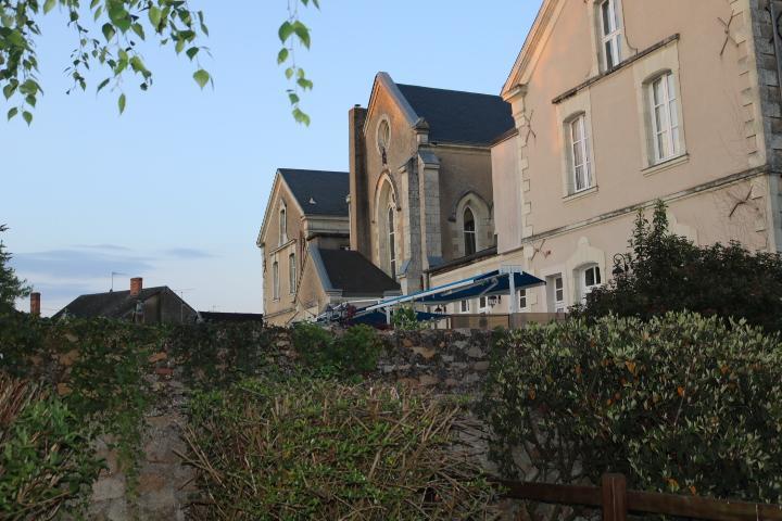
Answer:
<svg viewBox="0 0 782 521"><path fill-rule="evenodd" d="M649 100L655 163L660 163L681 154L679 101L671 73L649 84Z"/></svg>

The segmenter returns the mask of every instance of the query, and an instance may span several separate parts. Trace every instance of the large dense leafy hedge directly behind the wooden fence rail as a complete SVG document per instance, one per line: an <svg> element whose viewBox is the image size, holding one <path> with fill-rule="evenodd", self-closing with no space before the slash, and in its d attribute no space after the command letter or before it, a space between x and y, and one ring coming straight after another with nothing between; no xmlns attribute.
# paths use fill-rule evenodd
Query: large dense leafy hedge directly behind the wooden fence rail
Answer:
<svg viewBox="0 0 782 521"><path fill-rule="evenodd" d="M778 335L684 313L530 326L500 347L482 410L505 474L782 503Z"/></svg>

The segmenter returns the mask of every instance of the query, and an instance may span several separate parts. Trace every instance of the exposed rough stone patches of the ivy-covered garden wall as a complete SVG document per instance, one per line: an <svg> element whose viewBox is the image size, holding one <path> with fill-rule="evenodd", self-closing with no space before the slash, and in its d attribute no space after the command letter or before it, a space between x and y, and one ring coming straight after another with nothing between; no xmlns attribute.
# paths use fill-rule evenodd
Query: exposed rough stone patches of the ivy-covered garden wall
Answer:
<svg viewBox="0 0 782 521"><path fill-rule="evenodd" d="M270 332L270 345L264 346L262 364L288 372L297 364L290 331ZM377 370L368 378L432 392L437 395L477 397L489 369L492 333L470 330L424 330L380 333L386 348ZM71 353L70 358L78 356ZM218 350L217 367L225 370L230 361L225 348ZM55 363L63 366L62 360ZM187 364L192 365L192 361ZM62 369L62 368L61 368ZM66 373L61 369L58 373ZM198 367L188 367L199 372ZM263 368L258 368L263 370ZM108 470L93 484L89 519L97 521L185 520L194 487L195 473L179 455L187 454L182 430L187 424L186 363L163 351L149 359L148 381L155 394L153 407L144 418L143 453L136 485L118 467L111 439L98 442L99 456ZM59 389L67 390L62 377ZM457 423L459 450L491 470L488 461L487 431L482 422L467 414Z"/></svg>

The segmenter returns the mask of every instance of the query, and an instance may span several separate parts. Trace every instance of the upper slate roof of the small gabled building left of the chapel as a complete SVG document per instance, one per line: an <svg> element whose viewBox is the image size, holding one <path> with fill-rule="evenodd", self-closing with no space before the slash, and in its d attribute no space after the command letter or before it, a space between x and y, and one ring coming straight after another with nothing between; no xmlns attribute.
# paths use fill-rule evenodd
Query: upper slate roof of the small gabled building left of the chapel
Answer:
<svg viewBox="0 0 782 521"><path fill-rule="evenodd" d="M304 215L348 216L345 198L350 194L350 177L346 171L280 168L279 173Z"/></svg>

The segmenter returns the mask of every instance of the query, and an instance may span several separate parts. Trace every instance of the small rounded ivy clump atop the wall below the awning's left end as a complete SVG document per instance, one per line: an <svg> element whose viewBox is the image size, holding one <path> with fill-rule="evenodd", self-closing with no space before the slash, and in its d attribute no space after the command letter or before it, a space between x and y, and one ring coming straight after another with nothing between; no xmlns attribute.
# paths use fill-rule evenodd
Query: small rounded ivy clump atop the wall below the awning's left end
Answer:
<svg viewBox="0 0 782 521"><path fill-rule="evenodd" d="M373 371L381 351L369 326L353 326L341 334L314 323L293 327L293 345L304 363L325 374L355 376Z"/></svg>

